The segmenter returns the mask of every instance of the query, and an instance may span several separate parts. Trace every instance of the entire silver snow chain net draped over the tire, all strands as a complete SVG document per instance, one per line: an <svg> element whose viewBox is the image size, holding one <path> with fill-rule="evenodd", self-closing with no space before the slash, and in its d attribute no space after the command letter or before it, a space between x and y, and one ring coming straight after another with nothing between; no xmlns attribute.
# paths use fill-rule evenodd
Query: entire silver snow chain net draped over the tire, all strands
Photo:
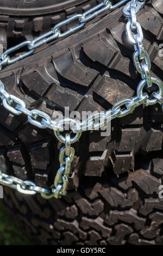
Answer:
<svg viewBox="0 0 163 256"><path fill-rule="evenodd" d="M0 68L2 65L15 63L18 60L25 58L32 54L35 49L46 42L57 38L64 38L74 32L77 32L79 29L83 28L86 22L93 19L93 17L103 13L105 10L115 10L120 7L122 4L128 2L128 0L122 0L115 5L112 5L109 0L105 0L103 3L98 4L96 7L85 11L83 14L77 14L65 21L62 21L54 26L52 31L41 35L39 38L34 39L33 41L24 41L21 44L14 46L7 51L5 51L0 57ZM31 124L41 128L41 129L52 129L54 130L55 136L65 143L65 147L60 149L59 161L60 168L57 172L57 175L54 179L54 185L50 188L42 188L35 185L32 181L23 181L17 179L13 176L9 176L0 171L0 184L6 185L12 188L15 188L18 192L24 194L35 194L41 193L41 196L49 199L52 197L60 198L66 194L66 188L68 185L68 175L70 174L71 162L74 158L74 149L71 147L72 143L78 141L82 132L86 130L96 130L105 126L109 121L115 118L124 117L131 112L137 106L142 104L153 105L155 103L160 103L161 108L163 109L163 83L158 79L151 77L151 60L148 56L148 53L143 48L143 32L139 22L137 22L136 14L139 13L141 8L145 4L145 0L131 0L126 4L123 9L124 16L128 17L128 22L126 24L126 33L128 40L131 44L134 45L135 52L133 54L133 62L136 70L141 75L141 82L137 86L137 95L131 99L123 99L117 102L111 109L105 113L96 113L91 115L89 118L83 122L76 121L75 119L62 119L58 122L52 120L48 114L39 111L37 109L29 110L26 108L26 103L23 100L20 100L18 97L8 94L4 89L4 84L0 81L0 97L3 102L3 106L11 113L20 115L25 114L28 117L28 120ZM67 25L68 23L78 20L79 25L75 26L68 31L62 33L61 27ZM10 58L9 54L14 52L24 46L27 46L29 51L26 53L20 54L15 58ZM144 87L151 87L152 84L158 86L158 92L153 92L150 96L147 93L143 92ZM99 122L96 124L95 119L99 118ZM40 120L40 121L39 121ZM70 134L62 136L60 132L64 131L64 125L70 124L71 130L74 133L74 137L71 138Z"/></svg>

